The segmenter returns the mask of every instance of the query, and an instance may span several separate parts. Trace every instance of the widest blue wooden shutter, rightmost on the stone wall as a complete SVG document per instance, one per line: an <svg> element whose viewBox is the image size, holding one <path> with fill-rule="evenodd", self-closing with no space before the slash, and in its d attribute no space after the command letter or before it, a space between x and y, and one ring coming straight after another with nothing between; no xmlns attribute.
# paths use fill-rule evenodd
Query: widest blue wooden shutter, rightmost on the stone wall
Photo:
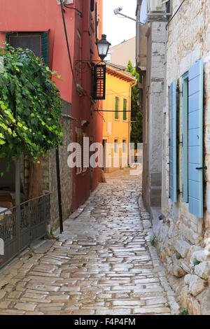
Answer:
<svg viewBox="0 0 210 329"><path fill-rule="evenodd" d="M189 69L188 159L189 211L203 217L203 59Z"/></svg>

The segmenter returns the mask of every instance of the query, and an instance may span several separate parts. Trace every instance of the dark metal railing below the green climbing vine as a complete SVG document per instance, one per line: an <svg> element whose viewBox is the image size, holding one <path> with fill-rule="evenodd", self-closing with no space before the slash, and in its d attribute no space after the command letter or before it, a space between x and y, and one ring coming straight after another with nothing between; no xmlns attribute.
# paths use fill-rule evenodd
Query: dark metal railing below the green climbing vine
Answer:
<svg viewBox="0 0 210 329"><path fill-rule="evenodd" d="M32 241L44 237L48 222L50 193L1 211L0 239L4 242L4 255L0 255L0 268L30 246Z"/></svg>

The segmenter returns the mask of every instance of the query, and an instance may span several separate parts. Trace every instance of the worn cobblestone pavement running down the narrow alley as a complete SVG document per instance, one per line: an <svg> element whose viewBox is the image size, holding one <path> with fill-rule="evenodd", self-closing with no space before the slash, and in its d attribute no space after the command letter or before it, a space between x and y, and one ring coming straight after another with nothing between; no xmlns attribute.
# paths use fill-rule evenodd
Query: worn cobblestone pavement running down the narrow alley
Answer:
<svg viewBox="0 0 210 329"><path fill-rule="evenodd" d="M151 245L141 176L129 172L106 175L59 239L1 269L0 314L178 314Z"/></svg>

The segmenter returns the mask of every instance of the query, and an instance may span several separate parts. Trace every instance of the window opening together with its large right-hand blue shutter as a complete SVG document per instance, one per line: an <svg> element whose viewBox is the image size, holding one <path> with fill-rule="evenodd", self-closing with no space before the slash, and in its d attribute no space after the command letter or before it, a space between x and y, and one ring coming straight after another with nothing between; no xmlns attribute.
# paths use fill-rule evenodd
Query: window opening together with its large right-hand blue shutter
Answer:
<svg viewBox="0 0 210 329"><path fill-rule="evenodd" d="M182 187L189 212L203 217L203 83L204 61L182 77Z"/></svg>

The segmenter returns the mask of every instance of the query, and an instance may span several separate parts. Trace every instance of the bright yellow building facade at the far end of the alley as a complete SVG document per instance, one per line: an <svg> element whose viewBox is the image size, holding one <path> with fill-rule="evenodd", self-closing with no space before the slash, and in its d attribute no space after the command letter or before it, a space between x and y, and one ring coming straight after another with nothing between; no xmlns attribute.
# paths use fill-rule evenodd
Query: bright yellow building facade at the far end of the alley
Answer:
<svg viewBox="0 0 210 329"><path fill-rule="evenodd" d="M103 169L114 172L128 165L131 132L131 88L136 78L123 66L106 64L106 99L103 101Z"/></svg>

